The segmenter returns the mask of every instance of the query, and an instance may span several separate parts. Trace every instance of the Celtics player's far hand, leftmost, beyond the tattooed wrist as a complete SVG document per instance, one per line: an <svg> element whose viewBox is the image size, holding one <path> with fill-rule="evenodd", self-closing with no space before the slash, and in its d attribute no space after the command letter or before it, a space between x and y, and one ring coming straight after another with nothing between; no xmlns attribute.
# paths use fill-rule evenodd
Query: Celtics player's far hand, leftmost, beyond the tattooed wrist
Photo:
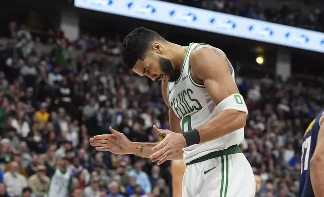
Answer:
<svg viewBox="0 0 324 197"><path fill-rule="evenodd" d="M90 138L91 146L96 147L97 151L109 151L119 155L125 155L130 153L131 141L129 141L123 133L114 130L109 127L112 134L97 135Z"/></svg>

